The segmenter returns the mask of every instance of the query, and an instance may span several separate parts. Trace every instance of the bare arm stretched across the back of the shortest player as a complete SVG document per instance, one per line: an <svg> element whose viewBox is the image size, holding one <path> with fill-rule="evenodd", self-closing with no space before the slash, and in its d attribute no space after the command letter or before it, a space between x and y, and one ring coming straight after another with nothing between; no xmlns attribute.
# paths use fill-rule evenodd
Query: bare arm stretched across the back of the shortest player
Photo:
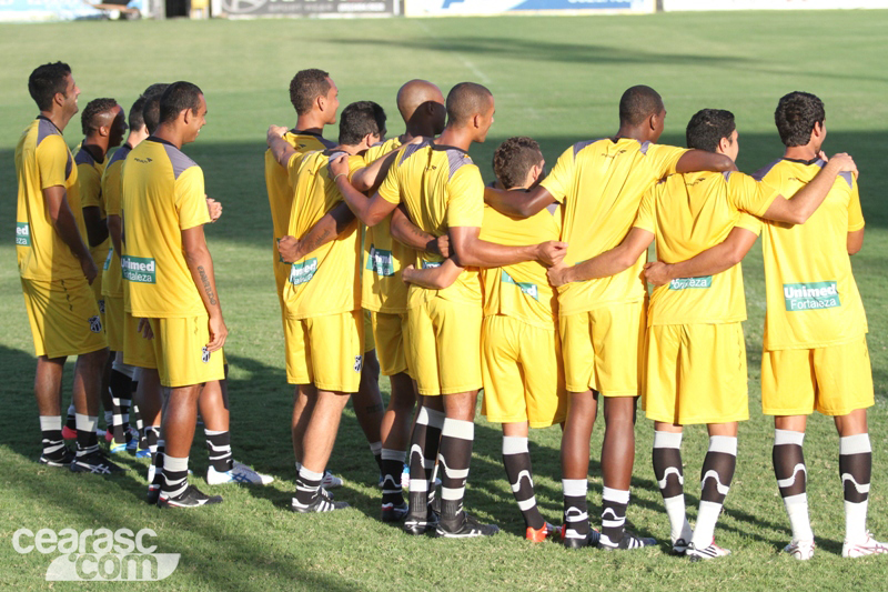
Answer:
<svg viewBox="0 0 888 592"><path fill-rule="evenodd" d="M524 261L539 261L551 267L561 262L567 252L567 243L561 241L522 247L506 247L484 241L478 238L481 228L477 227L454 227L448 233L452 257L455 257L456 262L464 268L502 268Z"/></svg>

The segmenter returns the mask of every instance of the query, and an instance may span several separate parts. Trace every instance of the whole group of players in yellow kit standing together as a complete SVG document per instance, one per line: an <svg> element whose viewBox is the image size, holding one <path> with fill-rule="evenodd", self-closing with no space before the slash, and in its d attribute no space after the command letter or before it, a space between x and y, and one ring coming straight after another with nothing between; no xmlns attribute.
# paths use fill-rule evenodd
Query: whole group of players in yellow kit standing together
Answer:
<svg viewBox="0 0 888 592"><path fill-rule="evenodd" d="M202 230L221 208L181 151L196 139L206 103L191 83L164 87L133 106L128 143L105 164L122 140L120 107L105 100L94 118L87 107L87 154L73 158L61 139L77 112L70 69L34 71L29 89L41 116L17 149L17 245L39 357L41 462L119 470L95 440L100 392L111 393L111 451L138 453L139 438L125 425L135 392L152 455L149 501L189 508L222 501L188 483L199 408L209 482L271 478L231 458L226 329ZM775 122L786 152L753 177L734 163L730 112L697 112L688 149L657 144L663 100L639 86L620 98L615 136L569 147L548 175L538 144L511 138L494 153L496 183L485 187L467 150L493 123L486 88L464 82L445 99L431 82L407 82L396 97L405 131L387 140L379 104L340 111L337 92L326 72L297 72L290 84L296 126L272 126L265 153L286 375L295 385L293 511L347 506L329 491L341 480L327 463L354 398L380 468L383 521L403 521L408 534L495 534L463 508L483 388L482 413L503 425L503 462L528 540L558 538L572 549L653 545L625 528L640 398L654 421L654 471L673 551L692 560L728 554L715 543L715 526L736 466L737 424L748 419L739 263L761 235L761 399L775 417L774 471L793 530L786 551L807 560L815 550L803 441L817 410L835 418L840 437L842 555L888 553L866 529L874 391L849 259L864 238L857 170L847 154L821 152L818 98L780 99ZM337 142L326 140L325 126L337 120ZM90 141L93 129L98 141ZM104 169L99 197L78 187L87 178L74 172L81 165ZM647 263L654 241L657 261ZM64 446L59 408L61 368L72 354L75 454ZM386 409L380 373L391 381ZM599 400L596 530L587 478ZM529 428L553 424L563 429L561 526L536 506L528 451ZM694 529L680 455L688 424L709 431Z"/></svg>

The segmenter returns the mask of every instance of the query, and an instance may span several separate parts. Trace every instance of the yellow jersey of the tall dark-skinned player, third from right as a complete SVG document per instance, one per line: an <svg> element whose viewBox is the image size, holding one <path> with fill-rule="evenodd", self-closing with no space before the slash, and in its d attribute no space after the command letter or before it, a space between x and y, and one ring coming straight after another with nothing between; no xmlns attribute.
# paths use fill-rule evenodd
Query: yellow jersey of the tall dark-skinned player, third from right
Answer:
<svg viewBox="0 0 888 592"><path fill-rule="evenodd" d="M685 152L632 138L589 140L565 150L541 183L564 204L565 264L586 261L623 242L645 191L674 173ZM559 314L644 300L647 289L642 269L646 260L644 253L616 275L563 285L558 289Z"/></svg>

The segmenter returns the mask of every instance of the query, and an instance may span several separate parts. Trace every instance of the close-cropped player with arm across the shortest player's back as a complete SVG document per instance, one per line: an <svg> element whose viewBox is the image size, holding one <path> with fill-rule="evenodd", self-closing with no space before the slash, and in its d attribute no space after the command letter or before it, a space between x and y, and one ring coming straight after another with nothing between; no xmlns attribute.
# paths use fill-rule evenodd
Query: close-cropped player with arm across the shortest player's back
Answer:
<svg viewBox="0 0 888 592"><path fill-rule="evenodd" d="M373 227L404 203L411 220L423 232L450 235L452 251L466 268L533 260L554 263L564 253L561 243L503 247L478 239L484 182L466 151L472 143L483 142L493 124L493 94L481 84L463 82L448 93L446 110L447 126L441 137L402 150L370 199L349 183L347 163L334 161L331 170L349 207L362 222ZM440 262L440 257L422 253L415 265ZM404 530L422 534L435 528L434 512L427 505L432 475L426 466L434 465L441 430L442 512L435 533L448 538L495 534L495 525L481 524L463 510L481 388L482 302L477 271L466 269L446 290L412 288L407 308L407 365L415 372L423 407L411 449L421 446L423 458L411 454L410 512Z"/></svg>

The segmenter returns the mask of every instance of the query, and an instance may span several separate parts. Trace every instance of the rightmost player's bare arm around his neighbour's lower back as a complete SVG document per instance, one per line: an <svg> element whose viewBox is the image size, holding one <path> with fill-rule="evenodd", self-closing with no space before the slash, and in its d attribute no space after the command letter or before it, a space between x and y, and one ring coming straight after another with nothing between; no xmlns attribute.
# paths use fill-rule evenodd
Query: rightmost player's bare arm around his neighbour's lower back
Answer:
<svg viewBox="0 0 888 592"><path fill-rule="evenodd" d="M645 279L654 285L662 285L676 278L722 273L743 261L757 238L758 235L751 230L734 227L724 241L680 263L655 261L646 264Z"/></svg>

